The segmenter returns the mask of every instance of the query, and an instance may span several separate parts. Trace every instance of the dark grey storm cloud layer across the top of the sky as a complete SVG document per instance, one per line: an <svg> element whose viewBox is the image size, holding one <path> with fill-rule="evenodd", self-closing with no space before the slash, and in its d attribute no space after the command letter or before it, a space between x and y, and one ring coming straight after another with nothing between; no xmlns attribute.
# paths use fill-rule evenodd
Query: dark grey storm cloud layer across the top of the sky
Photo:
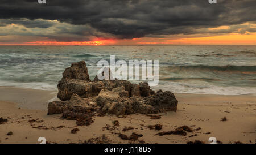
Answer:
<svg viewBox="0 0 256 155"><path fill-rule="evenodd" d="M99 32L118 38L194 34L200 33L197 29L202 28L236 25L247 21L255 23L255 0L217 2L218 4L210 5L208 0L48 0L46 5L40 5L37 0L2 0L0 18L15 19L14 21L19 18L57 19L73 25L90 25ZM47 23L19 24L25 27L38 25L41 28L52 26ZM68 33L69 30L63 28L60 31ZM255 32L255 28L247 28L247 31ZM86 29L69 33L90 35ZM95 36L95 33L91 35Z"/></svg>

